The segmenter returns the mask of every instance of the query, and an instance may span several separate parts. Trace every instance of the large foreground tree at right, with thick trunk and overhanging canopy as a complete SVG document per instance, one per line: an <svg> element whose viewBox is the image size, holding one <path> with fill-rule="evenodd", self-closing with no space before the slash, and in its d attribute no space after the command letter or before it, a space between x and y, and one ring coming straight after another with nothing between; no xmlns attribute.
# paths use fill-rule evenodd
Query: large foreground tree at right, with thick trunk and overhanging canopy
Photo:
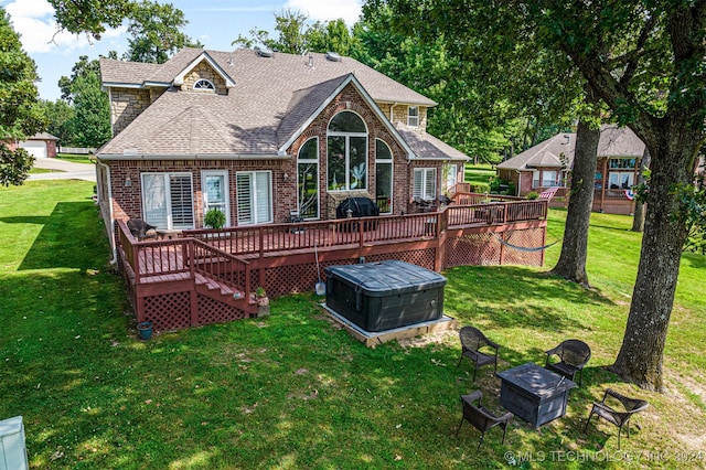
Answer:
<svg viewBox="0 0 706 470"><path fill-rule="evenodd" d="M457 41L477 45L470 21L488 2L468 0L400 0L407 10L424 12ZM570 58L591 89L621 125L648 146L651 161L649 211L638 277L620 352L611 368L640 386L664 387L662 357L698 150L706 140L706 1L616 2L598 0L509 0L496 11L514 15L512 26L531 30L548 50ZM428 14L429 11L436 12ZM486 26L483 24L482 26ZM489 41L504 44L501 34Z"/></svg>

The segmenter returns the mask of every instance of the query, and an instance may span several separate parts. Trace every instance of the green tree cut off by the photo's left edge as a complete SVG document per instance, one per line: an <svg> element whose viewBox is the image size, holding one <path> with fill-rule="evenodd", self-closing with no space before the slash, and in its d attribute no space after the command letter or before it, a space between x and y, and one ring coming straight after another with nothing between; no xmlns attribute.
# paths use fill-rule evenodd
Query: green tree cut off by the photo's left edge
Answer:
<svg viewBox="0 0 706 470"><path fill-rule="evenodd" d="M10 19L0 7L0 184L22 184L34 159L26 150L9 142L43 130L39 107L36 67L20 43Z"/></svg>

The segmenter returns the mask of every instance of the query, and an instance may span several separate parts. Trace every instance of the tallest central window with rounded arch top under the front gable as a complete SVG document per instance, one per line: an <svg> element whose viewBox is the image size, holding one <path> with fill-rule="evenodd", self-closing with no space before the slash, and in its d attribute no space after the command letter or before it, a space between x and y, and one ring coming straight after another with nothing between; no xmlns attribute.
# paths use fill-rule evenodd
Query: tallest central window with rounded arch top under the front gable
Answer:
<svg viewBox="0 0 706 470"><path fill-rule="evenodd" d="M367 188L367 128L359 115L341 111L327 132L329 191Z"/></svg>

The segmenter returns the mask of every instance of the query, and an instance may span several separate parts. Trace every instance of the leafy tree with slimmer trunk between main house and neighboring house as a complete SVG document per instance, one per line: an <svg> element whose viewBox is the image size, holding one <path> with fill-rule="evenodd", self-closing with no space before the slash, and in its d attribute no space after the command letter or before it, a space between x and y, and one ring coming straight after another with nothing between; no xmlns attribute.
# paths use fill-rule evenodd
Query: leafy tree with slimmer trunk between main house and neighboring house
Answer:
<svg viewBox="0 0 706 470"><path fill-rule="evenodd" d="M443 74L449 78L439 78L442 93L438 97L432 95L440 104L429 119L429 127L434 129L432 124L440 124L439 136L445 140L478 156L479 149L471 147L474 140L482 141L483 137L492 137L490 132L500 129L507 140L503 153L510 158L526 145L535 143L543 124L566 121L576 116L581 118L575 142L567 228L559 261L552 271L588 286L586 252L600 120L593 116L599 109L595 98L580 104L588 98L580 86L584 81L570 70L565 54L557 54L538 43L536 34L521 24L522 19L512 9L488 3L464 17L445 11L448 4L443 2L388 3L399 13L391 21L388 30L420 35L428 44L441 43L447 56L457 58L450 61L453 68ZM384 18L379 14L384 9L381 3L368 3L364 8L365 18L375 11L374 21L379 21ZM403 14L404 11L407 13ZM449 22L454 25L458 22L458 28L463 29L463 41L448 34ZM424 76L424 72L421 74ZM447 111L449 107L451 113ZM527 135L532 137L527 139Z"/></svg>

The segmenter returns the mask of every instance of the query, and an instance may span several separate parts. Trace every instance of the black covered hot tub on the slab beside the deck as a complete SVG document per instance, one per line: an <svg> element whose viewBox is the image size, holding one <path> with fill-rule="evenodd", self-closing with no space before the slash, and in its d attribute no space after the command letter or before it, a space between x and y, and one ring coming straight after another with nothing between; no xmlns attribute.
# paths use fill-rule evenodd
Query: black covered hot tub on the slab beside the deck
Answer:
<svg viewBox="0 0 706 470"><path fill-rule="evenodd" d="M327 307L365 331L441 318L446 278L404 261L330 266Z"/></svg>

